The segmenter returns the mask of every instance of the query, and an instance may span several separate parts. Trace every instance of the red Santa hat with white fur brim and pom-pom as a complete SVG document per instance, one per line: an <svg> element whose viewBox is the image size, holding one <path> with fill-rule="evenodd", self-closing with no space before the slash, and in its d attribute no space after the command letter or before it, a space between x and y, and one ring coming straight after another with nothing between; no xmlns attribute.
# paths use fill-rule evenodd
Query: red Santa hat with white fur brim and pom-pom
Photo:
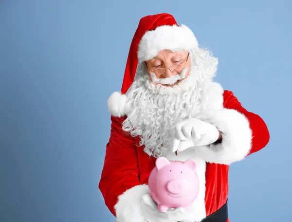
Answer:
<svg viewBox="0 0 292 222"><path fill-rule="evenodd" d="M140 19L130 46L121 92L114 92L108 100L110 114L125 115L128 91L134 81L138 62L147 61L161 50L173 52L198 48L193 32L185 25L179 26L172 15L162 13Z"/></svg>

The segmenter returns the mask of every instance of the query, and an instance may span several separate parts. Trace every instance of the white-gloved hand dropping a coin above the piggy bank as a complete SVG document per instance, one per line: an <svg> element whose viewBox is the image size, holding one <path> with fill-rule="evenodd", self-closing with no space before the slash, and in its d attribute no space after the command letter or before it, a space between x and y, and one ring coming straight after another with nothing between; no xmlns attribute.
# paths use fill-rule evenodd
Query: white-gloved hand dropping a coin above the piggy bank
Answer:
<svg viewBox="0 0 292 222"><path fill-rule="evenodd" d="M173 131L175 139L172 151L183 151L189 148L190 140L193 142L193 146L206 146L216 142L220 137L219 130L213 124L195 118L176 124ZM181 144L182 142L185 143L184 146Z"/></svg>

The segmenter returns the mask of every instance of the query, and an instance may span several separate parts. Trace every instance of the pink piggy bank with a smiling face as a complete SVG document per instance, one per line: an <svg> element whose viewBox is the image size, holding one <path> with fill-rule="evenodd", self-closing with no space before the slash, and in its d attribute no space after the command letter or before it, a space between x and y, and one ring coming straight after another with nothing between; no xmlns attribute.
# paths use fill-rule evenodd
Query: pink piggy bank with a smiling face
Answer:
<svg viewBox="0 0 292 222"><path fill-rule="evenodd" d="M168 208L183 207L188 211L199 193L195 160L168 161L159 157L155 165L149 175L148 187L158 210L166 212Z"/></svg>

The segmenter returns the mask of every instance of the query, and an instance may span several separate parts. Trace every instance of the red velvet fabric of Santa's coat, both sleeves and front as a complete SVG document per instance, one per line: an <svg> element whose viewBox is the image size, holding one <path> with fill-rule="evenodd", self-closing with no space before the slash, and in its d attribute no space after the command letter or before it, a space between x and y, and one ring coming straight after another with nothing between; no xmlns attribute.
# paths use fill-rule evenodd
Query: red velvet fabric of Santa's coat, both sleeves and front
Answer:
<svg viewBox="0 0 292 222"><path fill-rule="evenodd" d="M244 109L232 92L224 91L223 107L243 114L248 120L249 128L252 132L251 147L244 154L240 154L244 155L241 159L267 145L270 136L266 124L260 116ZM99 183L99 189L102 192L105 203L115 216L114 206L118 202L118 197L134 186L147 184L149 173L155 166L155 158L149 157L144 152L144 146L139 146L139 138L133 138L122 130L121 124L125 118L111 116L110 140L107 144L104 168ZM210 156L211 154L206 155ZM219 164L220 161L215 163L216 161L206 160L206 216L217 211L227 200L228 164L240 160L235 158L233 161L231 159L227 164ZM225 162L222 160L222 163Z"/></svg>

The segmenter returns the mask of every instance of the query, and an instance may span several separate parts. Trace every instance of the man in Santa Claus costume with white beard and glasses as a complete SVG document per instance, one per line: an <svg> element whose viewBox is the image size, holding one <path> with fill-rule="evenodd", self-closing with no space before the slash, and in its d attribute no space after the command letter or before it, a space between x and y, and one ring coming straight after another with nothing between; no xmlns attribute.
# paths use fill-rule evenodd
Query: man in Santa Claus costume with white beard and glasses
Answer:
<svg viewBox="0 0 292 222"><path fill-rule="evenodd" d="M213 81L218 59L169 14L142 18L121 92L108 101L110 140L99 188L117 222L228 222L228 169L264 148L266 124ZM187 212L159 212L147 186L157 157L194 159L200 190Z"/></svg>

